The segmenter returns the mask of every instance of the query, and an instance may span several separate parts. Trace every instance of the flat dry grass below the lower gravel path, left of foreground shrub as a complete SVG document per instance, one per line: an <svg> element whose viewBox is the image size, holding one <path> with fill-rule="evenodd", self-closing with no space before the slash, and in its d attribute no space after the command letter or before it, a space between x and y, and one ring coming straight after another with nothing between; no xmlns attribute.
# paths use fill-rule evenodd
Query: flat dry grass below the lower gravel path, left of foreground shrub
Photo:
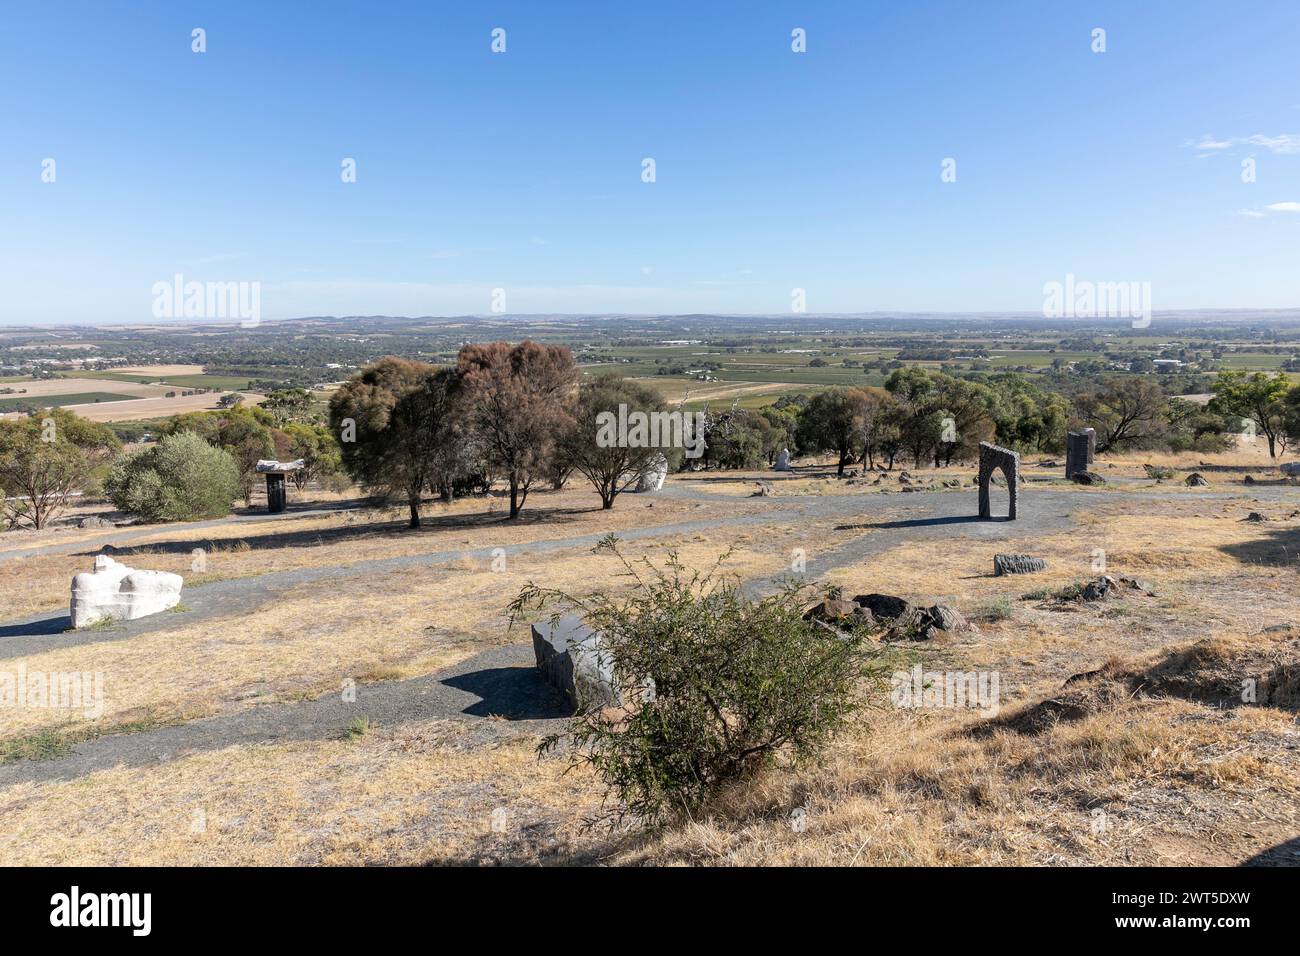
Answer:
<svg viewBox="0 0 1300 956"><path fill-rule="evenodd" d="M552 852L594 806L590 782L529 735L467 749L459 721L358 740L230 747L138 770L0 792L4 865L335 865ZM495 826L495 829L494 829ZM536 840L536 836L532 838Z"/></svg>

